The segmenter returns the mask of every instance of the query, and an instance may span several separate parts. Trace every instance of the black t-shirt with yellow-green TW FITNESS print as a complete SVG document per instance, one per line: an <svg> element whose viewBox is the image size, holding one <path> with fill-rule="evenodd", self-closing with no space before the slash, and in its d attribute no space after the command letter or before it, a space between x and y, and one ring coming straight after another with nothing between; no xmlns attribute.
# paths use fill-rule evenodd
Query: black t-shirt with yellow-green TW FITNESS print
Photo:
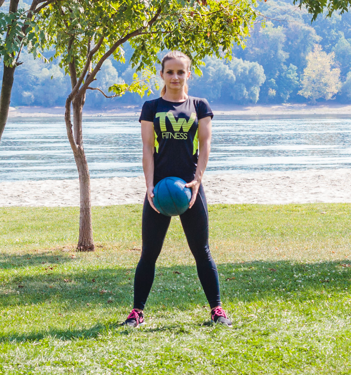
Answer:
<svg viewBox="0 0 351 375"><path fill-rule="evenodd" d="M185 102L163 98L146 101L139 121L154 123L154 183L164 177L193 180L199 156L198 121L213 113L206 99L189 96Z"/></svg>

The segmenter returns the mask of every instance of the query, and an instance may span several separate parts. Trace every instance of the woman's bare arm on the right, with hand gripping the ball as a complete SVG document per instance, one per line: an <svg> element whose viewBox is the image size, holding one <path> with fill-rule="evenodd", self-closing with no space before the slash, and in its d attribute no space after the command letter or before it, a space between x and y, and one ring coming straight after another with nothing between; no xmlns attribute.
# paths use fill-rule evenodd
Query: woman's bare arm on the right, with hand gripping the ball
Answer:
<svg viewBox="0 0 351 375"><path fill-rule="evenodd" d="M199 127L197 132L199 136L199 159L197 160L195 177L193 181L185 185L187 187L191 187L191 189L193 190L189 208L191 208L195 202L196 195L202 180L202 175L203 172L205 172L211 150L212 123L210 116L201 118L199 120Z"/></svg>

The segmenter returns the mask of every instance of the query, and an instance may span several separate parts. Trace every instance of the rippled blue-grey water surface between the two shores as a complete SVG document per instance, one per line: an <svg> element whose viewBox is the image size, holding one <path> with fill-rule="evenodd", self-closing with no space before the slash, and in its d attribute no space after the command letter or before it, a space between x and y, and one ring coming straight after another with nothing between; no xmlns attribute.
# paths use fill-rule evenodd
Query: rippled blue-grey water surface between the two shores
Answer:
<svg viewBox="0 0 351 375"><path fill-rule="evenodd" d="M92 178L142 174L137 117L84 118ZM351 167L351 118L216 116L207 172ZM0 181L77 178L63 118L9 119L0 142Z"/></svg>

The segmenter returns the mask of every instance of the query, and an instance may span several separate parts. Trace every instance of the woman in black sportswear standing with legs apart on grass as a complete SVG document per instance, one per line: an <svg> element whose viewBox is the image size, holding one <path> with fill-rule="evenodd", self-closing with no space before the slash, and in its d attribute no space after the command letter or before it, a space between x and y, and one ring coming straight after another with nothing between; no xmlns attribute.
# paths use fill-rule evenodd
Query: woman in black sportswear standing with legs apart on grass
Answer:
<svg viewBox="0 0 351 375"><path fill-rule="evenodd" d="M211 308L211 320L232 327L221 308L218 272L208 245L208 211L201 184L211 147L213 113L206 99L188 96L191 61L172 51L162 60L161 97L146 101L139 118L143 141L143 170L147 192L142 215L142 253L134 278L134 306L123 325L145 324L143 309L152 287L170 217L159 213L152 197L164 177L180 177L192 189L190 205L180 215L197 273Z"/></svg>

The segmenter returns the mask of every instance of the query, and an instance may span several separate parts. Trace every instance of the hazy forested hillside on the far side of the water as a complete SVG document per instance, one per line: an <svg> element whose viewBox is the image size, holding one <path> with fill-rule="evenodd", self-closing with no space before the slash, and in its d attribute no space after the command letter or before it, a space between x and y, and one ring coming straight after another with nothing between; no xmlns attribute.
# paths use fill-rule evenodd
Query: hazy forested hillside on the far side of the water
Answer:
<svg viewBox="0 0 351 375"><path fill-rule="evenodd" d="M193 74L189 81L191 95L221 104L351 102L351 14L327 19L320 15L311 24L311 15L292 1L258 2L258 10L261 17L246 48L235 47L231 61L206 58L203 76ZM261 27L262 20L265 27ZM131 49L124 47L128 61ZM51 54L45 52L47 57ZM23 64L16 69L11 105L63 106L70 79L58 61L34 60L25 51L20 61ZM109 60L99 72L99 88L107 93L114 83L130 82L132 74L127 63ZM106 99L94 91L88 92L87 106L139 105L143 100L128 93Z"/></svg>

